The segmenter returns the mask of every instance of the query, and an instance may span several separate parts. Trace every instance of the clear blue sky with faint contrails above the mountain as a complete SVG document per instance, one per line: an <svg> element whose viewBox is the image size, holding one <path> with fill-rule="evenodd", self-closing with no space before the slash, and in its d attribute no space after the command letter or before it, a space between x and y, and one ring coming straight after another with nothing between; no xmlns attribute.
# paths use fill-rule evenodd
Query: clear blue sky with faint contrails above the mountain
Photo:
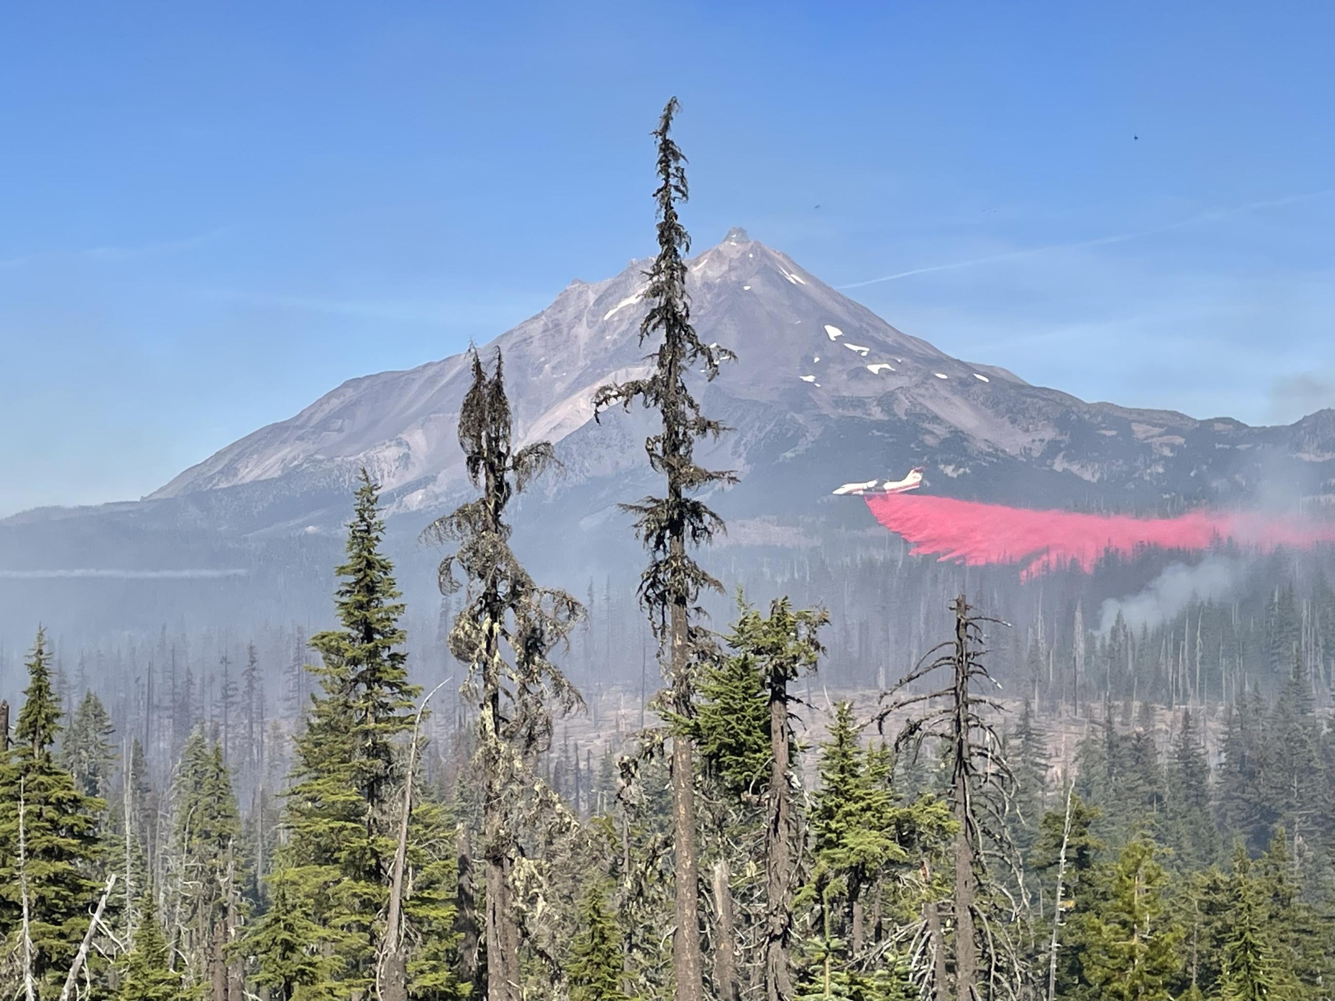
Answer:
<svg viewBox="0 0 1335 1001"><path fill-rule="evenodd" d="M672 93L698 248L901 275L848 292L1087 399L1335 406L1332 37L1324 1L12 4L0 514L615 274Z"/></svg>

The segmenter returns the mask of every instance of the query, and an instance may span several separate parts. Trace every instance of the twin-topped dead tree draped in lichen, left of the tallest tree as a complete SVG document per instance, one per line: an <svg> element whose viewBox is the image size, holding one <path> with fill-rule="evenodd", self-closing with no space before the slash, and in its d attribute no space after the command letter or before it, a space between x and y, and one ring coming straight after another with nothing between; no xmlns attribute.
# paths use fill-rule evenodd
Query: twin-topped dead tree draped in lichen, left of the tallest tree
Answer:
<svg viewBox="0 0 1335 1001"><path fill-rule="evenodd" d="M489 376L473 351L473 386L459 411L459 444L469 479L482 495L427 526L423 538L457 542L441 562L442 594L454 594L458 567L463 609L450 630L450 651L478 699L477 767L482 773L482 856L486 865L487 998L519 1001L519 920L513 872L523 846L517 809L537 785L531 759L551 743L551 706L569 713L579 693L547 659L566 642L583 607L565 591L538 587L510 551L505 509L510 498L554 464L549 442L515 451L501 352ZM507 661L507 655L510 659Z"/></svg>

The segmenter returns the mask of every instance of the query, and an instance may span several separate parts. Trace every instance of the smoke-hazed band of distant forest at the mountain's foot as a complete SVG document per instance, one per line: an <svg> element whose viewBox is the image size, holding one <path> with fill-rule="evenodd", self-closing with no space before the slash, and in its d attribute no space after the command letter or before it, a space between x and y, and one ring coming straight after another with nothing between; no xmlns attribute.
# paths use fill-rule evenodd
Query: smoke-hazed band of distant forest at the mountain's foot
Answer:
<svg viewBox="0 0 1335 1001"><path fill-rule="evenodd" d="M1093 573L1056 571L1023 586L1005 567L963 569L906 558L888 537L872 551L838 558L833 553L737 558L721 550L724 579L765 603L789 597L829 611L821 675L832 691L885 687L905 673L937 637L951 629L947 603L968 590L1013 629L996 638L992 667L1007 690L1035 702L1043 715L1097 719L1105 701L1147 701L1167 707L1218 711L1259 689L1274 697L1296 655L1307 665L1318 705L1330 707L1335 681L1335 567L1330 553L1234 554L1227 598L1127 603L1167 567L1185 569L1175 554L1145 553L1132 562L1109 557ZM1223 557L1224 554L1216 554ZM643 629L634 581L583 579L574 590L586 617L570 635L563 661L590 706L622 694L638 706L655 690L654 641ZM1153 593L1151 593L1152 595ZM1104 603L1111 602L1104 622ZM705 595L714 621L730 614L724 599ZM1119 611L1121 614L1119 614ZM1147 618L1144 613L1152 615ZM457 597L405 619L413 677L435 685L450 674L447 635ZM53 686L72 713L92 689L140 735L150 767L166 775L196 721L216 722L228 762L242 770L247 794L260 783L276 787L286 774L284 747L311 691L302 665L311 630L272 623L254 634L203 631L125 637L115 646L83 647L51 637ZM31 643L31 635L23 639ZM0 651L4 694L23 685L23 654ZM250 686L250 687L247 687ZM254 698L252 698L254 697ZM443 691L431 723L438 742L449 738L463 706ZM260 734L260 737L252 737ZM264 739L266 771L258 769ZM247 763L250 758L250 763Z"/></svg>

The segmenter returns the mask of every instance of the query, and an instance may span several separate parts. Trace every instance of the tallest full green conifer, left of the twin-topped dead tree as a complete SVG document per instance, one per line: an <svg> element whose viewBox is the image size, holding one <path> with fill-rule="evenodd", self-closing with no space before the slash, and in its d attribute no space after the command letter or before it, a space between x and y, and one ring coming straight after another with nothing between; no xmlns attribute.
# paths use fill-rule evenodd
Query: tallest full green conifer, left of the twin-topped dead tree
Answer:
<svg viewBox="0 0 1335 1001"><path fill-rule="evenodd" d="M306 727L296 738L283 818L288 841L274 874L287 894L282 913L288 925L270 922L268 932L252 932L248 944L251 953L259 953L264 944L284 945L278 929L314 930L316 938L306 946L324 960L336 954L338 962L303 961L298 965L304 980L283 980L280 974L295 962L291 956L259 954L258 961L266 976L300 982L303 992L316 996L370 988L398 844L398 745L413 726L410 710L419 689L407 679L403 605L396 601L394 567L379 551L383 535L378 490L363 470L347 558L336 571L340 629L310 641L320 655L320 663L308 669L319 678L320 693L311 697Z"/></svg>

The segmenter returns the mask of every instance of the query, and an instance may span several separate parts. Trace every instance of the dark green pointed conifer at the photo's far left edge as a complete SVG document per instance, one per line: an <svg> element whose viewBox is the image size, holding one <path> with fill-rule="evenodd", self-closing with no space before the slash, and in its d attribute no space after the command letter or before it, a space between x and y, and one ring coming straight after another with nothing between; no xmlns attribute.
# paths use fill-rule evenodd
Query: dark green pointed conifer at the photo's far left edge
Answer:
<svg viewBox="0 0 1335 1001"><path fill-rule="evenodd" d="M84 795L56 761L60 703L41 630L27 667L15 741L0 762L0 932L7 949L21 956L25 896L31 970L39 997L48 1001L60 993L97 898L92 877L100 856L97 818L105 802Z"/></svg>

